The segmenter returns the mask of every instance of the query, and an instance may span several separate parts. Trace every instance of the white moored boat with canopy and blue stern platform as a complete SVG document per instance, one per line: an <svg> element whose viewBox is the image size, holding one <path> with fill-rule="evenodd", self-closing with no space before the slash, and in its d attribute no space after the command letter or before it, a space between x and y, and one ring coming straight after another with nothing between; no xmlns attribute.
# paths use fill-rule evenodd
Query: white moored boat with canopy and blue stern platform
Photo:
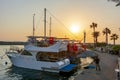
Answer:
<svg viewBox="0 0 120 80"><path fill-rule="evenodd" d="M56 73L70 72L76 68L76 64L71 64L70 60L65 56L67 52L67 41L59 40L49 46L39 46L37 38L41 37L34 36L34 26L33 36L28 36L28 38L28 44L24 45L23 49L11 49L10 51L6 52L14 66ZM47 37L45 34L44 41L46 40Z"/></svg>

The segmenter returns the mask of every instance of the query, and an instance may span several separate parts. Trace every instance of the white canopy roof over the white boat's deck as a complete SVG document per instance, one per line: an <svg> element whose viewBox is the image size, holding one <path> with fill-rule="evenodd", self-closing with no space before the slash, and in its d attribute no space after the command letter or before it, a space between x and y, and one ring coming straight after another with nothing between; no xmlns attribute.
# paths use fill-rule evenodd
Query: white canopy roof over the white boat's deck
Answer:
<svg viewBox="0 0 120 80"><path fill-rule="evenodd" d="M49 47L38 47L34 45L26 45L25 50L33 52L60 52L67 51L67 42L62 43L61 41L56 42L56 44Z"/></svg>

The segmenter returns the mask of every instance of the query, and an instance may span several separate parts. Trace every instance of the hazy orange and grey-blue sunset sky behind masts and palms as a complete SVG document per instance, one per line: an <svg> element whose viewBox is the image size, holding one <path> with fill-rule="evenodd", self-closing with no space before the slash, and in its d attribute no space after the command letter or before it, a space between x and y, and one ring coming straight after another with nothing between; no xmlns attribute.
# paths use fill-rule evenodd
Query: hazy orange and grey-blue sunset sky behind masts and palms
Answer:
<svg viewBox="0 0 120 80"><path fill-rule="evenodd" d="M0 0L0 41L26 41L32 35L33 14L35 14L35 35L43 35L44 8L47 8L47 35L49 17L52 17L52 36L83 39L93 42L90 25L98 24L99 42L105 42L102 30L108 27L120 37L120 6L108 0ZM78 32L71 31L78 26ZM109 40L109 43L113 41ZM120 38L116 41L120 44Z"/></svg>

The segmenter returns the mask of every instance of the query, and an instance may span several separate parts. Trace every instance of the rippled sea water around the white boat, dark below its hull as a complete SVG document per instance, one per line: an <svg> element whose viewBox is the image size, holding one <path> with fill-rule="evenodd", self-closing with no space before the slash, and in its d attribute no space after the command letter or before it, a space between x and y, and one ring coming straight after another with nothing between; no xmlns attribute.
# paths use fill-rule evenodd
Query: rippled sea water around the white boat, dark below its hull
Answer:
<svg viewBox="0 0 120 80"><path fill-rule="evenodd" d="M9 48L9 45L0 45L0 80L68 80L59 74L13 66L5 54Z"/></svg>

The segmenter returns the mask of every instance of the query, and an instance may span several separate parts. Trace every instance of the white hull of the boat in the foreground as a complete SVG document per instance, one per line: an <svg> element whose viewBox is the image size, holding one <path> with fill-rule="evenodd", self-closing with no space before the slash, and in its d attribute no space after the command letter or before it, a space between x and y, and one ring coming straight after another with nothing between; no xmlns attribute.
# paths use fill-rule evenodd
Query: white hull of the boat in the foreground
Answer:
<svg viewBox="0 0 120 80"><path fill-rule="evenodd" d="M59 61L59 62L36 61L28 56L21 56L21 55L16 56L12 54L9 54L8 57L11 60L12 64L16 67L56 72L56 73L59 73L62 67L70 63L68 60ZM60 65L59 63L60 64L64 63L64 65L63 64Z"/></svg>

